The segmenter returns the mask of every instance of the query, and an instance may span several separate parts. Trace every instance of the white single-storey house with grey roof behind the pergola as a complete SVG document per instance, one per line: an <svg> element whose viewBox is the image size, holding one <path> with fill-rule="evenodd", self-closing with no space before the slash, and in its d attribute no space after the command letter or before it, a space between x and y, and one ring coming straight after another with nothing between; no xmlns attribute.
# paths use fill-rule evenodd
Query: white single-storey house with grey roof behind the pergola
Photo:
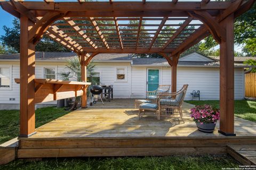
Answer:
<svg viewBox="0 0 256 170"><path fill-rule="evenodd" d="M36 52L36 78L61 79L67 72L67 59L75 53ZM163 58L132 58L131 54L99 54L93 58L94 72L101 84L113 85L114 98L146 98L146 91L158 84L171 84L171 67ZM244 67L235 63L235 99L244 98ZM19 109L19 54L0 55L0 109ZM148 77L154 76L154 81ZM219 99L219 62L216 59L191 53L180 57L177 70L177 89L188 83L190 92L199 90L201 100ZM42 103L44 105L55 104ZM41 105L42 105L41 104Z"/></svg>

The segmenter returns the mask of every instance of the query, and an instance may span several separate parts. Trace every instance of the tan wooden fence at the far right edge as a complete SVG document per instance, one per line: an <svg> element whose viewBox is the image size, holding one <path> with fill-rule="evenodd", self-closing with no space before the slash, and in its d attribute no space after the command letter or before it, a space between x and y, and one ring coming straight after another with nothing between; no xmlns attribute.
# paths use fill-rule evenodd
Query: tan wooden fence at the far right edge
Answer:
<svg viewBox="0 0 256 170"><path fill-rule="evenodd" d="M245 74L245 97L256 98L256 73Z"/></svg>

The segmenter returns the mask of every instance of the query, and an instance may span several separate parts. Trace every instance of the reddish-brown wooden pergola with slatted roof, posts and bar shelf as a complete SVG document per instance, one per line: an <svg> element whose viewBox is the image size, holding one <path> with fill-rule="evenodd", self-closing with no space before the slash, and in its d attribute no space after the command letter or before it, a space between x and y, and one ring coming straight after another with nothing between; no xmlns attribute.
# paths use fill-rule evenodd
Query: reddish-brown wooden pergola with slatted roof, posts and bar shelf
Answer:
<svg viewBox="0 0 256 170"><path fill-rule="evenodd" d="M86 86L89 83L61 83L35 79L35 45L43 35L77 53L81 60L84 82L86 82L86 65L99 53L158 53L165 57L172 67L172 91L176 91L180 54L211 34L220 44L219 132L235 135L234 19L249 10L253 3L254 0L223 2L1 0L0 5L3 10L20 18L21 25L20 80L17 80L20 82L20 137L29 137L35 132L35 103L42 101L36 99L36 96L41 96L38 93L43 86L46 86L44 84L55 84L47 85L51 90L46 93L52 95L49 100L56 100L65 98L65 95L58 98L56 94L61 88L64 92L63 86L68 86L70 83L74 88L73 96L82 95L82 107L87 105ZM123 21L137 22L130 24ZM68 91L68 87L66 90Z"/></svg>

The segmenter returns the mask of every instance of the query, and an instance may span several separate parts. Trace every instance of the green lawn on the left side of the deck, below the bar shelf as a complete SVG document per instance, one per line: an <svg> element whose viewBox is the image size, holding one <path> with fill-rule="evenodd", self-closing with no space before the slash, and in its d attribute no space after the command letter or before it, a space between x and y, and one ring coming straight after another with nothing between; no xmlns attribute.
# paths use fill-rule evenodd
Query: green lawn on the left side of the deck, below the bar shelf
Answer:
<svg viewBox="0 0 256 170"><path fill-rule="evenodd" d="M0 111L0 144L18 136L20 124L19 112L18 110ZM36 110L36 128L67 113L69 111L65 111L63 108L39 108Z"/></svg>

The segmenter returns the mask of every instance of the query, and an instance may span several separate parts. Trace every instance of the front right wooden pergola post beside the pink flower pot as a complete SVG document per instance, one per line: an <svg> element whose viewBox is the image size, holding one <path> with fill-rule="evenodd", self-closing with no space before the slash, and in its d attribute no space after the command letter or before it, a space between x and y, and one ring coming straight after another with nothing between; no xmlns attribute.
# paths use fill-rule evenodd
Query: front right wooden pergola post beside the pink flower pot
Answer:
<svg viewBox="0 0 256 170"><path fill-rule="evenodd" d="M222 25L226 41L220 44L220 130L224 135L234 133L234 14Z"/></svg>

